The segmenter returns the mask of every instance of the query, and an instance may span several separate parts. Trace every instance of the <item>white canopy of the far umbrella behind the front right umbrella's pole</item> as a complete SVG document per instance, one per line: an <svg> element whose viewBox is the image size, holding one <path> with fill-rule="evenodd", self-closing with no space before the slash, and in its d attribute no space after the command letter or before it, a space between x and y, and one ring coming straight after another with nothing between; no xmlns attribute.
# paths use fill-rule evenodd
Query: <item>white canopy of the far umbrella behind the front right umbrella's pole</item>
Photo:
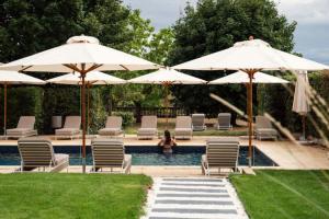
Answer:
<svg viewBox="0 0 329 219"><path fill-rule="evenodd" d="M225 83L249 83L249 77L243 71L237 71L229 76L211 81L208 84ZM253 74L252 83L288 83L288 81L258 71Z"/></svg>

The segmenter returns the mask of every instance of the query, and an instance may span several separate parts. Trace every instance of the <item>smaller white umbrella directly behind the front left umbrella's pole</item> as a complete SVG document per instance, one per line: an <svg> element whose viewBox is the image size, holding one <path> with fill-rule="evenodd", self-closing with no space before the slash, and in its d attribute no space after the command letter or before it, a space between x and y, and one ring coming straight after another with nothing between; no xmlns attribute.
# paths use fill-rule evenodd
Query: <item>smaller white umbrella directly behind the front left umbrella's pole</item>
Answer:
<svg viewBox="0 0 329 219"><path fill-rule="evenodd" d="M86 85L87 85L87 126L88 126L88 134L89 134L89 125L90 125L90 113L89 113L89 90L92 85L110 85L110 84L123 84L126 83L126 80L110 76L107 73L103 73L101 71L91 71L86 76ZM80 73L67 73L64 76L59 76L53 79L47 80L49 83L56 84L68 84L68 85L79 85L81 87L82 80ZM81 97L80 97L81 100Z"/></svg>

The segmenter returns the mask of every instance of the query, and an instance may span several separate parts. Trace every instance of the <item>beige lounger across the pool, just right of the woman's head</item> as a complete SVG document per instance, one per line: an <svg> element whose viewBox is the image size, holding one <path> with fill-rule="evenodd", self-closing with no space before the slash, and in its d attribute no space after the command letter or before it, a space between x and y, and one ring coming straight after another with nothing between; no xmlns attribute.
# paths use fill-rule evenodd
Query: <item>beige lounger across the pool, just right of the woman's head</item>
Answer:
<svg viewBox="0 0 329 219"><path fill-rule="evenodd" d="M191 116L178 116L175 118L174 138L191 139L192 134L193 131Z"/></svg>

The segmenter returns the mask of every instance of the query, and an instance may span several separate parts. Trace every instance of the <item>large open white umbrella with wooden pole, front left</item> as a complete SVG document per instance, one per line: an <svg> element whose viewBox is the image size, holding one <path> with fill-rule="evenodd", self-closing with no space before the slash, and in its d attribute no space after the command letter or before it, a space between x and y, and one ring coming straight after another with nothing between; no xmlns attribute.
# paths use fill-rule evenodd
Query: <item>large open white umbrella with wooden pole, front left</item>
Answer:
<svg viewBox="0 0 329 219"><path fill-rule="evenodd" d="M73 36L65 45L5 64L0 70L79 72L81 76L82 172L86 172L86 76L93 70L145 70L158 65L102 46L92 36Z"/></svg>

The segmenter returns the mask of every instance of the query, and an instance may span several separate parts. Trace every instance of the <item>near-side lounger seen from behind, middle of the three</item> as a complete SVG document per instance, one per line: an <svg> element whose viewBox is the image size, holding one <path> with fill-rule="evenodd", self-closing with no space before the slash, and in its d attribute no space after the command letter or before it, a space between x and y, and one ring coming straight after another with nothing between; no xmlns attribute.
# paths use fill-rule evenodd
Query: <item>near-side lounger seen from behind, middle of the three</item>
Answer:
<svg viewBox="0 0 329 219"><path fill-rule="evenodd" d="M92 170L98 172L102 169L118 169L121 173L129 173L132 168L132 154L125 154L125 148L121 140L95 138L91 142Z"/></svg>

